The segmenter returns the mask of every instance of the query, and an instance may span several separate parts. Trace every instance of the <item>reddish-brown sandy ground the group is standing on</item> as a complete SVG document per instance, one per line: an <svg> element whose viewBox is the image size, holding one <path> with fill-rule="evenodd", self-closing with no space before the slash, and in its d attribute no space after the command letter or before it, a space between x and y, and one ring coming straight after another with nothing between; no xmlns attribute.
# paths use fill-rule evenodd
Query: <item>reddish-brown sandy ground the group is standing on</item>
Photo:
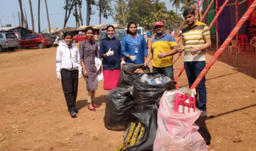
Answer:
<svg viewBox="0 0 256 151"><path fill-rule="evenodd" d="M79 43L76 43L78 46ZM209 61L215 53L209 50ZM123 131L103 123L106 92L98 83L97 111L87 108L86 84L79 80L77 118L67 112L61 82L55 73L56 47L0 53L0 150L114 150ZM175 56L176 57L176 56ZM206 75L208 116L212 140L208 150L256 150L256 55L225 51ZM183 57L174 65L177 73ZM150 63L152 66L152 63ZM186 74L179 86L188 85Z"/></svg>

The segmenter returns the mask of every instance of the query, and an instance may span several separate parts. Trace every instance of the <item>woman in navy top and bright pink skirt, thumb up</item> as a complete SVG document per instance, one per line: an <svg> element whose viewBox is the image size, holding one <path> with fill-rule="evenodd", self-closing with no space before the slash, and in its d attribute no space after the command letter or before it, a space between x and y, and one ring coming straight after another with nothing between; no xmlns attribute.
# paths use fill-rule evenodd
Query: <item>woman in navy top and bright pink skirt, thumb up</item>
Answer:
<svg viewBox="0 0 256 151"><path fill-rule="evenodd" d="M106 38L102 39L100 43L100 57L103 58L103 87L104 90L107 90L107 94L117 87L120 75L120 64L125 64L121 54L120 40L116 39L114 34L114 26L109 25L107 27Z"/></svg>

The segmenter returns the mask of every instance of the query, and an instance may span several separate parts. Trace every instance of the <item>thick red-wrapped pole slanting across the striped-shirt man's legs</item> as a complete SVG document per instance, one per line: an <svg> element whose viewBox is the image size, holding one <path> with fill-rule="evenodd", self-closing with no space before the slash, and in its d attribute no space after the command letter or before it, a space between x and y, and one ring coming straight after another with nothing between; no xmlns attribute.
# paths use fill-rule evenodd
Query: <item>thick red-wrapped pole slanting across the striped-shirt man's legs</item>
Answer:
<svg viewBox="0 0 256 151"><path fill-rule="evenodd" d="M245 23L245 21L249 18L251 15L251 12L256 7L256 1L254 0L251 6L247 9L243 17L239 20L239 22L236 24L234 29L231 31L227 39L224 41L224 43L220 46L220 48L217 50L217 52L214 54L210 62L207 63L207 65L204 67L202 72L199 74L193 85L190 89L196 88L198 84L201 82L202 78L205 76L205 74L208 72L208 70L214 65L215 61L219 58L221 53L225 50L226 47L228 47L230 41L235 37L236 33L239 31L239 29L242 27L242 25Z"/></svg>

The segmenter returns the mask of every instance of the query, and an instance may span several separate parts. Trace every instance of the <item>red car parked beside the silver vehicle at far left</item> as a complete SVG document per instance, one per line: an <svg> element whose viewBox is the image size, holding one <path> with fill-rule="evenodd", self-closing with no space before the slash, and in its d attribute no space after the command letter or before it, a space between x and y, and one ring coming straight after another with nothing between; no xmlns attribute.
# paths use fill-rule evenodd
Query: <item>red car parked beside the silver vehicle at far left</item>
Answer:
<svg viewBox="0 0 256 151"><path fill-rule="evenodd" d="M24 37L22 40L19 41L20 46L22 48L29 48L29 47L51 47L52 40L48 37L47 34L29 34Z"/></svg>

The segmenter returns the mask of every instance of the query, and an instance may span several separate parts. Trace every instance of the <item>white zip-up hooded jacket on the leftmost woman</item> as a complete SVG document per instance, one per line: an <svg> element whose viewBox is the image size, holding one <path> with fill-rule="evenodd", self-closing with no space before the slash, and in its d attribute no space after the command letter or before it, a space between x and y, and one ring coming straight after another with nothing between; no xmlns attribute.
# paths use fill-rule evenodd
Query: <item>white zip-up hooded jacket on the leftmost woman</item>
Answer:
<svg viewBox="0 0 256 151"><path fill-rule="evenodd" d="M56 72L60 72L61 69L78 69L78 71L82 72L78 48L73 43L72 47L69 48L64 40L59 41L56 53Z"/></svg>

